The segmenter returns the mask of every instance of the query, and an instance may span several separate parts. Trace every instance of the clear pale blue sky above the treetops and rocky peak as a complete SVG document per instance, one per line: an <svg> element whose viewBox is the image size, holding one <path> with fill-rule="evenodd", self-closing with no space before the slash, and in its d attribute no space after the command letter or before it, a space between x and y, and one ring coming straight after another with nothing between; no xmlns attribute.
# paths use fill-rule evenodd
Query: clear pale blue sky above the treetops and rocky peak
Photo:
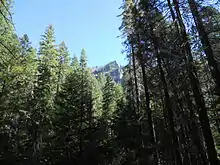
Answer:
<svg viewBox="0 0 220 165"><path fill-rule="evenodd" d="M13 21L19 35L28 34L38 47L45 28L52 24L57 43L65 41L71 55L85 48L89 66L116 60L126 64L118 30L120 0L15 0Z"/></svg>

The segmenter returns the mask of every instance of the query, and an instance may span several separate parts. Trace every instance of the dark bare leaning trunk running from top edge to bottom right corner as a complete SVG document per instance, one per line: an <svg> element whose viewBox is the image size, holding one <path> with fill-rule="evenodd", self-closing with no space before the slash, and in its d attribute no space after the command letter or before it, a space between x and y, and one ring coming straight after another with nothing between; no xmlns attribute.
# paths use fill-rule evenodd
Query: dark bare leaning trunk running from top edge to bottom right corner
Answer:
<svg viewBox="0 0 220 165"><path fill-rule="evenodd" d="M199 120L201 123L202 132L203 132L206 147L207 147L209 161L211 165L216 165L218 164L217 152L215 149L214 139L213 139L210 124L209 124L209 118L208 118L207 109L205 106L205 101L204 101L204 98L201 92L201 88L199 86L199 80L196 76L196 69L193 65L191 46L188 41L186 28L185 28L185 25L183 23L182 16L180 13L179 3L177 0L173 0L173 3L174 3L174 7L176 10L176 14L177 14L177 20L180 25L180 31L181 31L181 35L183 38L183 44L185 44L185 51L186 51L186 54L188 55L188 60L187 59L185 60L188 64L187 70L188 70L188 74L190 78L191 88L193 90L193 94L195 97L195 102L197 104L197 107L199 108L199 111L198 111Z"/></svg>

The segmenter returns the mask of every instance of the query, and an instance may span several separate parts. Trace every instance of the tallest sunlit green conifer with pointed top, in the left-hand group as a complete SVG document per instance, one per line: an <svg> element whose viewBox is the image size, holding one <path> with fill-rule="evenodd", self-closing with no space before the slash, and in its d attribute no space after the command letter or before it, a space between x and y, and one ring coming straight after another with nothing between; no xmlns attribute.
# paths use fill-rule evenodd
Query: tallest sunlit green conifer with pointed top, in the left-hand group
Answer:
<svg viewBox="0 0 220 165"><path fill-rule="evenodd" d="M42 152L49 145L47 140L52 131L51 124L54 117L54 98L58 83L58 53L52 25L42 35L38 55L37 83L28 107L31 109L30 134L33 140L32 159L34 162L40 162L43 159Z"/></svg>

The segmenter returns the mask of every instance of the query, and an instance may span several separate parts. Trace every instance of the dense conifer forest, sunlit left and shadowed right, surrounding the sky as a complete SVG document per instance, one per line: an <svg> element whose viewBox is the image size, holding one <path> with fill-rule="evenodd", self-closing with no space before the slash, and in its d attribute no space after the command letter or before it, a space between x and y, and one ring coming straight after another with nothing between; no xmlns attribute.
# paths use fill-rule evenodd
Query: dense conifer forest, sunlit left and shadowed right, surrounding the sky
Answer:
<svg viewBox="0 0 220 165"><path fill-rule="evenodd" d="M116 83L52 25L34 48L0 0L1 165L220 164L220 4L121 4L128 64Z"/></svg>

